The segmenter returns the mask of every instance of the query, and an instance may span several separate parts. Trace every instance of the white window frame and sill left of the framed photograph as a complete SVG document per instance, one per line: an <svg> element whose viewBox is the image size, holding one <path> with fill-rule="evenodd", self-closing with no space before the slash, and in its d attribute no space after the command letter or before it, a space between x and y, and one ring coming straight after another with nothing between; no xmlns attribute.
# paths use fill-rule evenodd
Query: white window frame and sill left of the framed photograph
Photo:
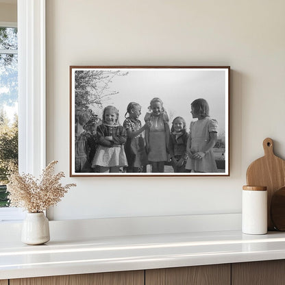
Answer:
<svg viewBox="0 0 285 285"><path fill-rule="evenodd" d="M18 167L38 176L46 166L45 0L17 0L17 13ZM0 221L23 219L21 209L0 210Z"/></svg>

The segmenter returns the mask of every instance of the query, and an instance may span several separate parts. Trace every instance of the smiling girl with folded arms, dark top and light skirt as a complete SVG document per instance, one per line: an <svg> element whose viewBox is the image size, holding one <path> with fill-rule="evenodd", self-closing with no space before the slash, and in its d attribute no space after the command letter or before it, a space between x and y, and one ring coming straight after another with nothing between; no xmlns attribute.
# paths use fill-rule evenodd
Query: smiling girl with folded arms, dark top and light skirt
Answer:
<svg viewBox="0 0 285 285"><path fill-rule="evenodd" d="M103 110L103 123L97 127L96 141L99 145L92 168L99 166L101 173L117 173L127 166L123 144L127 140L125 128L119 125L119 110L107 106Z"/></svg>

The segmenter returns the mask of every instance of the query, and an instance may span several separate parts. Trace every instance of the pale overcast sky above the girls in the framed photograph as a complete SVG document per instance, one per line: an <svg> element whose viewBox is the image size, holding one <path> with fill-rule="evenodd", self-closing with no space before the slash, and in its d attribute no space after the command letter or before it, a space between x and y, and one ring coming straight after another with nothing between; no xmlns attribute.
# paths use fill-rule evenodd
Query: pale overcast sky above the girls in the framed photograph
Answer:
<svg viewBox="0 0 285 285"><path fill-rule="evenodd" d="M116 69L118 70L118 69ZM125 69L120 69L125 72ZM219 133L225 131L227 103L226 72L205 69L127 69L125 76L116 76L109 84L109 90L119 92L104 103L104 107L113 105L119 109L119 121L123 124L127 104L135 101L142 106L140 121L143 123L149 102L159 97L164 108L171 115L182 116L186 120L187 130L190 121L190 103L198 98L208 101L210 116L219 122Z"/></svg>

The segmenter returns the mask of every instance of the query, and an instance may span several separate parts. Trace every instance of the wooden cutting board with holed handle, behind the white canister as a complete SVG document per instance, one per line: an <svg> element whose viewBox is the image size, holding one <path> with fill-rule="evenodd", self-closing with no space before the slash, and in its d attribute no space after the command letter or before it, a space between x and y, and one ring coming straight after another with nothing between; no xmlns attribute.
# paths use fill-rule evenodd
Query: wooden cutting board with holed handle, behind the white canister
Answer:
<svg viewBox="0 0 285 285"><path fill-rule="evenodd" d="M270 204L273 193L285 186L285 160L275 156L273 140L263 140L264 156L254 160L247 168L248 186L267 186L267 225L268 230L274 230L270 219Z"/></svg>

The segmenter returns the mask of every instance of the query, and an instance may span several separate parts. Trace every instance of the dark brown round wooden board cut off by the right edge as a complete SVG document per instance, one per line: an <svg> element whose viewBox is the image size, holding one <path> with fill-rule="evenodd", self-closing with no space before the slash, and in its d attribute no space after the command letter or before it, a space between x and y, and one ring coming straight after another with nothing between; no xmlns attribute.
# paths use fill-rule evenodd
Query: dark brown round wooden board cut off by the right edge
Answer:
<svg viewBox="0 0 285 285"><path fill-rule="evenodd" d="M280 188L273 194L270 215L275 229L285 231L285 187Z"/></svg>

